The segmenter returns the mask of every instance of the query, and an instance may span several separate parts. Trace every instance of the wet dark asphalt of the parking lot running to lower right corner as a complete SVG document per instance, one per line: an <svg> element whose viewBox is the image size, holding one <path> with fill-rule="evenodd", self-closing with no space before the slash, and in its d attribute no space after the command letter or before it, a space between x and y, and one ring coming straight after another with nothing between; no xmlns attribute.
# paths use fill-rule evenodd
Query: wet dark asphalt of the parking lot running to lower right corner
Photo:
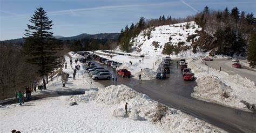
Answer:
<svg viewBox="0 0 256 133"><path fill-rule="evenodd" d="M184 82L176 61L173 62L171 73L165 80L147 81L142 77L142 82L138 82L133 78L118 77L117 82L112 80L98 80L98 82L104 86L119 84L130 86L137 92L147 94L153 100L180 109L229 132L256 132L256 114L192 98L190 94L197 83ZM112 71L111 67L106 68Z"/></svg>

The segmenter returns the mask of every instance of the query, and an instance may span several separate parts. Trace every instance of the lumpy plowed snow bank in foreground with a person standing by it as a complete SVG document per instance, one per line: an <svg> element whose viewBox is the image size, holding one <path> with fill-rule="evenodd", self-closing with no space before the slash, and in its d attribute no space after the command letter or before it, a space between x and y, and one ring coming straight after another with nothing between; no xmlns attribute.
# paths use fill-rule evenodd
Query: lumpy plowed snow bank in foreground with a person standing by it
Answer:
<svg viewBox="0 0 256 133"><path fill-rule="evenodd" d="M114 106L112 110L113 117L150 121L160 125L159 127L166 132L224 132L202 120L184 114L180 110L161 105L147 97L147 95L138 93L125 85L111 85L100 88L98 91L87 90L84 95L72 96L69 100ZM125 102L128 102L128 114L124 110Z"/></svg>

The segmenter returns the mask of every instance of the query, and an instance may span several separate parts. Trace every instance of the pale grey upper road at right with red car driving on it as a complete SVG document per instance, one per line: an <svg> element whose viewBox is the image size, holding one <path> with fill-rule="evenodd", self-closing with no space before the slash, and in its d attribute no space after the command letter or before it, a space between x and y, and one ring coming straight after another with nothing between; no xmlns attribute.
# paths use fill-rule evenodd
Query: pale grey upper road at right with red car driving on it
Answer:
<svg viewBox="0 0 256 133"><path fill-rule="evenodd" d="M246 77L256 83L256 71L251 71L243 68L233 68L232 64L234 64L235 62L232 62L231 60L206 61L206 63L211 68L219 70L221 67L221 71L225 71L229 75L238 74L241 77Z"/></svg>

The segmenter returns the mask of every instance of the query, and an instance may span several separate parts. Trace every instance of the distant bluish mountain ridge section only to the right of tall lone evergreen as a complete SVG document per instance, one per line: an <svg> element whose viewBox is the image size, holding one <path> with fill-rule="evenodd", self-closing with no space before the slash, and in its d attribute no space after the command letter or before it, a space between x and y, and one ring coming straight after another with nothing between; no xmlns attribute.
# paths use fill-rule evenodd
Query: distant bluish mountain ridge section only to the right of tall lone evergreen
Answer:
<svg viewBox="0 0 256 133"><path fill-rule="evenodd" d="M80 34L66 38L59 38L60 40L80 40L80 39L113 39L117 40L120 33L100 33L100 34Z"/></svg>

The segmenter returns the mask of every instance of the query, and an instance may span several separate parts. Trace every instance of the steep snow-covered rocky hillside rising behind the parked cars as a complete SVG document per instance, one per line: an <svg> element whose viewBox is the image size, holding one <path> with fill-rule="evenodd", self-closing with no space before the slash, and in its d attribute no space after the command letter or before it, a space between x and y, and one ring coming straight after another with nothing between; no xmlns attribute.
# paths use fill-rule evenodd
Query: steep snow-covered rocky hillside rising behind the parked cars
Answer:
<svg viewBox="0 0 256 133"><path fill-rule="evenodd" d="M187 37L196 34L196 31L201 31L201 28L194 21L163 25L145 29L130 42L133 43L133 53L160 55L167 42L171 42L172 45L185 42L186 46L190 46L191 43L186 41ZM199 38L199 36L196 38Z"/></svg>

